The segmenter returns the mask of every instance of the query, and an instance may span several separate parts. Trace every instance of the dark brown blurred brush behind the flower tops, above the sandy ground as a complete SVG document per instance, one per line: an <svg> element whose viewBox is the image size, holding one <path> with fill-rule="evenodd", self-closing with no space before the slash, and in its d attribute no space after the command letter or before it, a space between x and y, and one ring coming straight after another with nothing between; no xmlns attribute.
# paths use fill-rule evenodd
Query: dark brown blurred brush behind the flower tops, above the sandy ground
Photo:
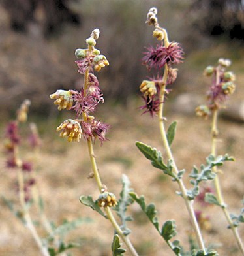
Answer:
<svg viewBox="0 0 244 256"><path fill-rule="evenodd" d="M202 69L219 57L230 57L234 65L243 62L241 0L1 0L1 113L26 97L35 112L50 112L48 95L80 82L74 50L85 47L96 27L101 32L97 48L110 61L99 73L105 97L128 103L147 75L140 65L144 47L155 44L153 29L145 24L151 6L159 8L170 40L185 50L177 92L198 91L202 85L195 77L201 79Z"/></svg>

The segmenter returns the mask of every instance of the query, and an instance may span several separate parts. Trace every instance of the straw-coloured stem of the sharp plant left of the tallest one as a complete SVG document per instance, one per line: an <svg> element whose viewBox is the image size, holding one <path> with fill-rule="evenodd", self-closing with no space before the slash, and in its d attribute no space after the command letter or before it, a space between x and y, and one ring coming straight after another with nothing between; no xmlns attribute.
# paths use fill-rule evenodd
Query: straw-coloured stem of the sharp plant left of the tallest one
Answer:
<svg viewBox="0 0 244 256"><path fill-rule="evenodd" d="M87 70L87 71L85 71L84 93L86 93L87 86L88 86L88 76L89 76L89 71ZM87 116L86 116L85 113L83 113L83 120L87 121ZM102 189L103 189L102 180L100 179L99 170L97 168L97 162L96 162L96 159L95 159L95 154L94 154L94 151L93 151L93 143L91 141L91 138L89 138L87 140L87 147L88 147L89 157L90 157L90 161L91 161L91 167L93 169L93 174L94 174L95 180L97 182L97 185L99 187L99 191L100 191L100 193L102 193ZM112 223L115 231L117 232L117 234L119 234L119 236L121 237L123 242L126 244L126 246L129 249L131 255L138 256L138 253L136 252L136 249L134 249L134 246L131 244L131 242L129 240L129 237L125 236L125 234L123 234L123 231L121 230L121 228L117 224L117 221L115 220L111 209L109 207L105 207L104 210L106 211L107 217L110 220L110 222Z"/></svg>

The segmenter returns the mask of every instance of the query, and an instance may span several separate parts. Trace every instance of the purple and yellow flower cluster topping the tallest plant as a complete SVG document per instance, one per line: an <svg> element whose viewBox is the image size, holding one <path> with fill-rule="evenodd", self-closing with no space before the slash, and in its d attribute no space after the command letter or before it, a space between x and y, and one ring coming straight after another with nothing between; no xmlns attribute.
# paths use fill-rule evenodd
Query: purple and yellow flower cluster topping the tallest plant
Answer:
<svg viewBox="0 0 244 256"><path fill-rule="evenodd" d="M159 26L157 21L157 8L151 8L147 14L147 24L153 25L153 37L160 40L161 43L155 47L147 47L147 52L144 52L142 64L150 71L155 69L157 77L160 77L160 72L167 72L166 76L157 80L144 80L140 85L142 99L145 104L141 107L145 112L149 112L154 116L159 112L159 106L162 104L160 93L168 93L167 84L173 84L177 78L177 69L172 68L172 65L179 64L183 61L183 50L177 42L168 42L168 35L165 29ZM163 87L163 88L162 88Z"/></svg>

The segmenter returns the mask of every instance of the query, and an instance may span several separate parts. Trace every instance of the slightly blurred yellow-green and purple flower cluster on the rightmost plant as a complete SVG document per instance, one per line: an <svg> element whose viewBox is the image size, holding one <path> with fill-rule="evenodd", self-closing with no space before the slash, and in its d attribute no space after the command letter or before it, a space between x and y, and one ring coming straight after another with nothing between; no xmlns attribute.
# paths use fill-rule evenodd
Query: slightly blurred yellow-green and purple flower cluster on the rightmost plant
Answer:
<svg viewBox="0 0 244 256"><path fill-rule="evenodd" d="M208 103L196 108L197 116L209 116L213 110L221 108L226 99L234 93L236 76L233 72L226 71L230 65L229 59L221 58L217 67L208 66L204 69L204 76L211 77L212 82L207 91Z"/></svg>

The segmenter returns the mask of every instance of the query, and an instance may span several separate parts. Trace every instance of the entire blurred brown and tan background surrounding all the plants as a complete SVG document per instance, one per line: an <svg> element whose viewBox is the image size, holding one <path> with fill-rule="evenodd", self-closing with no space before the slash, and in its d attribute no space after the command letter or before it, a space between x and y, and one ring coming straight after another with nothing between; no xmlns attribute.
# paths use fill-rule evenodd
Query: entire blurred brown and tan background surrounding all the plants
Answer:
<svg viewBox="0 0 244 256"><path fill-rule="evenodd" d="M138 110L143 104L138 87L147 77L141 65L142 53L145 46L157 43L152 38L153 28L145 24L151 7L158 8L159 24L167 29L169 39L179 42L185 51L185 61L177 67L178 78L167 99L166 116L168 123L178 121L175 158L187 171L204 162L210 152L209 121L194 116L194 108L204 103L210 82L202 72L207 65L216 65L221 57L232 60L230 70L237 76L237 89L222 112L219 152L230 153L237 160L226 167L230 171L224 176L223 189L230 210L238 213L244 182L242 0L0 0L0 131L5 134L8 120L14 118L24 99L30 99L30 120L37 122L43 140L38 170L49 216L59 223L77 214L94 221L85 226L85 232L81 228L71 237L79 238L82 244L74 255L110 255L113 231L109 223L78 202L82 194L97 197L98 193L95 182L86 180L90 172L87 149L84 142L67 144L56 134L55 128L70 118L70 113L58 112L49 95L56 89L79 88L82 76L74 65L74 50L85 47L85 39L95 28L100 29L96 47L110 61L110 66L97 74L105 98L98 116L112 125L110 142L103 147L95 145L99 170L104 170L102 179L119 195L121 174L127 174L138 194L144 194L147 202L158 204L162 221L176 219L179 239L189 232L187 214L179 216L179 209L185 207L183 202L172 206L177 187L152 170L134 146L135 140L142 140L161 147L157 119L141 116ZM80 152L85 153L77 159ZM31 154L27 150L23 153ZM1 167L5 167L5 156L0 156ZM16 191L10 189L13 181L5 168L1 174L1 194L14 197ZM32 238L5 208L1 204L0 254L38 255ZM221 232L226 227L224 218L217 210L207 211L213 214L213 229L206 234L207 242L217 241L221 255L239 256L231 234L226 236L229 231ZM170 255L138 208L132 208L133 214L138 221L132 240L140 255Z"/></svg>

